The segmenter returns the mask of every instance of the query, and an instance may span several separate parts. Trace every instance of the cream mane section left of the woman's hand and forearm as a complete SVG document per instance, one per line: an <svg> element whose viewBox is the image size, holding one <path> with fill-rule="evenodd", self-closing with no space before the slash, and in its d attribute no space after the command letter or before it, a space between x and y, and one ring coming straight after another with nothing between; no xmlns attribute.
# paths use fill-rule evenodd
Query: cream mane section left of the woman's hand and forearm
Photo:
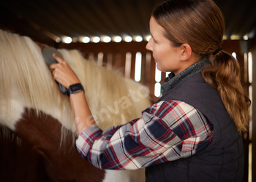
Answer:
<svg viewBox="0 0 256 182"><path fill-rule="evenodd" d="M39 46L27 36L0 31L0 114L4 126L15 129L13 111L22 113L24 107L44 111L70 126L72 112L69 100L59 94ZM17 114L18 116L18 114Z"/></svg>

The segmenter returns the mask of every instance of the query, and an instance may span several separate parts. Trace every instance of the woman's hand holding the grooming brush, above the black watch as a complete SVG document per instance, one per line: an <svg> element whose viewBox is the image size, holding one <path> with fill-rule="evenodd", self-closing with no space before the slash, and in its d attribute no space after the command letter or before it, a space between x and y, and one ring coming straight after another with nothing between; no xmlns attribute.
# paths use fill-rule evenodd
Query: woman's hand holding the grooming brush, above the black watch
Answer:
<svg viewBox="0 0 256 182"><path fill-rule="evenodd" d="M55 54L53 54L53 58L58 62L50 65L50 70L53 73L53 79L66 88L68 88L71 84L80 83L78 76L65 60Z"/></svg>

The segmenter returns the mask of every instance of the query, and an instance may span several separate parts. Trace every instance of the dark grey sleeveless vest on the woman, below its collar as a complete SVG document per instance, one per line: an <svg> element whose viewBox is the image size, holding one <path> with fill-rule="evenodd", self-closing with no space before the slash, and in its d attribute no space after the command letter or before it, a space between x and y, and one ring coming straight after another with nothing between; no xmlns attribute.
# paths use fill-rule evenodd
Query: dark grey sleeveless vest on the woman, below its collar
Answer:
<svg viewBox="0 0 256 182"><path fill-rule="evenodd" d="M146 181L243 181L241 135L216 90L197 73L172 88L157 102L181 100L201 111L214 125L214 138L192 157L146 167Z"/></svg>

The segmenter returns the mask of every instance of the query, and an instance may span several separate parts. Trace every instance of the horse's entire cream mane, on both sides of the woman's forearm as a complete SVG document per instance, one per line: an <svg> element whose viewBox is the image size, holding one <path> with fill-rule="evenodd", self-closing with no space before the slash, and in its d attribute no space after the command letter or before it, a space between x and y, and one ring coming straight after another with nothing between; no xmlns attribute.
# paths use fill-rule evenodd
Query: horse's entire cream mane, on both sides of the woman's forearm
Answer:
<svg viewBox="0 0 256 182"><path fill-rule="evenodd" d="M59 91L40 47L27 36L2 30L0 41L0 124L15 130L14 117L26 107L50 114L75 132L69 98ZM78 50L59 51L82 82L91 113L103 130L139 117L151 105L143 85L97 66Z"/></svg>

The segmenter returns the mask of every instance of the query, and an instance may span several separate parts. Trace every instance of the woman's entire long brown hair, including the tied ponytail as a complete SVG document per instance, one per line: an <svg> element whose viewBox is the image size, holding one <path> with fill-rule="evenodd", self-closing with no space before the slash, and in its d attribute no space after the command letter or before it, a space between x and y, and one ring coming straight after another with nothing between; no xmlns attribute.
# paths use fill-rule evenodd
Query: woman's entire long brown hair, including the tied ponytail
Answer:
<svg viewBox="0 0 256 182"><path fill-rule="evenodd" d="M187 43L202 59L208 58L211 65L203 68L203 78L219 92L238 131L246 131L250 100L241 86L238 61L220 50L225 23L219 7L212 0L169 0L152 16L175 46Z"/></svg>

